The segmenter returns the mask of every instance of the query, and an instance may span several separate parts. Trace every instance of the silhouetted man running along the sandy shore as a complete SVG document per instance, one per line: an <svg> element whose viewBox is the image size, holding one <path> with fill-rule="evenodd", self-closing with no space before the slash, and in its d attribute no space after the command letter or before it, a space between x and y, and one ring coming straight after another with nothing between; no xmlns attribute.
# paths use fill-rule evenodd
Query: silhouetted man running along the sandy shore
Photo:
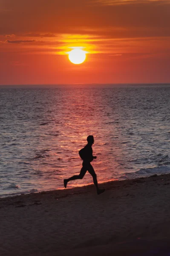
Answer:
<svg viewBox="0 0 170 256"><path fill-rule="evenodd" d="M84 175L88 171L89 174L91 174L93 177L93 183L95 184L97 194L100 195L101 193L103 193L105 191L105 189L98 188L97 175L95 174L95 170L93 169L93 167L90 163L90 162L92 162L93 159L97 158L92 155L92 144L94 144L94 142L95 142L94 137L92 135L89 135L87 137L87 145L79 151L79 155L80 155L81 159L83 160L83 163L82 163L83 167L81 168L80 174L74 175L74 176L70 177L69 179L65 179L64 180L65 188L67 186L67 183L71 180L78 180L78 179L82 180Z"/></svg>

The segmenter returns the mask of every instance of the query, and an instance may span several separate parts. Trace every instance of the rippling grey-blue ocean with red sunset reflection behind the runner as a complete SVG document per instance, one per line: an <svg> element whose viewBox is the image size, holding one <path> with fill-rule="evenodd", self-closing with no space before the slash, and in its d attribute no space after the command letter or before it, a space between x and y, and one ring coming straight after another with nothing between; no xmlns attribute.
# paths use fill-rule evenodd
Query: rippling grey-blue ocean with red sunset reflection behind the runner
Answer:
<svg viewBox="0 0 170 256"><path fill-rule="evenodd" d="M170 85L1 86L0 197L63 189L88 135L99 183L170 173Z"/></svg>

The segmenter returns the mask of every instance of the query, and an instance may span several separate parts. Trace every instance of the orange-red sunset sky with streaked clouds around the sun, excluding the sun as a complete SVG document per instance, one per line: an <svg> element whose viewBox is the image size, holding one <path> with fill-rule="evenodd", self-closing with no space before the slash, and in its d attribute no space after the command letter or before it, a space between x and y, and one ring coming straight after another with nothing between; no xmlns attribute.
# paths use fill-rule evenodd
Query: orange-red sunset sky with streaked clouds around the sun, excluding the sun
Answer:
<svg viewBox="0 0 170 256"><path fill-rule="evenodd" d="M168 82L170 0L0 0L0 84Z"/></svg>

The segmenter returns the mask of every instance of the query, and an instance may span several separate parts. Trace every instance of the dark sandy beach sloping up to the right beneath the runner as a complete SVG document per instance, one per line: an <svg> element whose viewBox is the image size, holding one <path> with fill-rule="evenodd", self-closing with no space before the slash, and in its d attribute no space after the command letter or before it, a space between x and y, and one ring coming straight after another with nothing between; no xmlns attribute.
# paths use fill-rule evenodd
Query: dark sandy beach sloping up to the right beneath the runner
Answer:
<svg viewBox="0 0 170 256"><path fill-rule="evenodd" d="M169 255L170 175L100 187L1 198L0 256Z"/></svg>

